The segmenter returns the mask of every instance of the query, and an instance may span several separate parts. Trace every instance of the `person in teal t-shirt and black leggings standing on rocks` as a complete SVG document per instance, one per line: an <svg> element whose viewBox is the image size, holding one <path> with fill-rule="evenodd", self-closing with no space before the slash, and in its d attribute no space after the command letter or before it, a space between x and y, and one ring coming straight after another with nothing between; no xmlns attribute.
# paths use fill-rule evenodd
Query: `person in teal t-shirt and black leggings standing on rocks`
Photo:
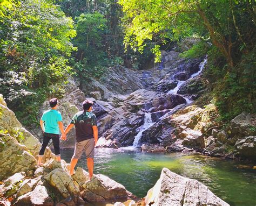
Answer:
<svg viewBox="0 0 256 206"><path fill-rule="evenodd" d="M52 98L49 101L49 104L51 109L45 111L40 120L40 125L43 130L43 144L38 155L38 165L42 165L42 158L44 156L45 148L48 146L51 139L57 160L60 161L59 130L62 132L62 137L66 137L62 123L62 115L59 111L57 111L57 98Z"/></svg>

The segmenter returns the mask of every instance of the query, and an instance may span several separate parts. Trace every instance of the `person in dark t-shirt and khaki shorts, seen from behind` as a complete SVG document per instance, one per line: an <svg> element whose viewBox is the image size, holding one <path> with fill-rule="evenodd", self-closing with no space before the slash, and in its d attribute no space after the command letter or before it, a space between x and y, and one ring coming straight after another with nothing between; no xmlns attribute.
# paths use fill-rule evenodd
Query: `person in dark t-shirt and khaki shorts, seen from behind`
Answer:
<svg viewBox="0 0 256 206"><path fill-rule="evenodd" d="M76 128L76 146L70 162L69 174L74 174L77 161L85 151L90 180L93 175L94 148L98 141L97 118L95 114L91 112L92 104L92 101L85 100L83 102L84 110L77 112L65 129L65 134L68 134L74 125ZM66 137L62 136L62 140L66 140Z"/></svg>

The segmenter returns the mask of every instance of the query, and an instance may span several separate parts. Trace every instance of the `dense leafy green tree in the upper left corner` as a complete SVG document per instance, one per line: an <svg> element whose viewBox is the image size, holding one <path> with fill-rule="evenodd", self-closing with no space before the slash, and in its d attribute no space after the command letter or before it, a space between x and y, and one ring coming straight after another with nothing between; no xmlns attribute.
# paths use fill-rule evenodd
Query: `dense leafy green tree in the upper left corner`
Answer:
<svg viewBox="0 0 256 206"><path fill-rule="evenodd" d="M6 8L0 26L0 93L11 107L44 101L71 73L73 20L52 3L28 0Z"/></svg>

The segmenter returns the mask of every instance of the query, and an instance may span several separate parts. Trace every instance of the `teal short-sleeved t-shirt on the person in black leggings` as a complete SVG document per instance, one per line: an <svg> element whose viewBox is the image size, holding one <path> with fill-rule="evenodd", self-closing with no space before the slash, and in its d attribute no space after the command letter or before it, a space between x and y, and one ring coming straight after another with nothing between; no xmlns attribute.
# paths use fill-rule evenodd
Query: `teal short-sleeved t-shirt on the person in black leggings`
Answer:
<svg viewBox="0 0 256 206"><path fill-rule="evenodd" d="M44 132L59 134L58 122L62 121L62 115L55 109L49 109L43 113L41 120L44 121Z"/></svg>

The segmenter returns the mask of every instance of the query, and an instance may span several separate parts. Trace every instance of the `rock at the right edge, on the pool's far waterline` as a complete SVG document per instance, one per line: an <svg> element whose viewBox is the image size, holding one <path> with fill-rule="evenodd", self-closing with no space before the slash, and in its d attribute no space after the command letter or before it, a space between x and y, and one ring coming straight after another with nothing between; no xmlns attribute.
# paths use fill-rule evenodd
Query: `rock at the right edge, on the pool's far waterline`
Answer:
<svg viewBox="0 0 256 206"><path fill-rule="evenodd" d="M245 137L235 143L241 157L256 160L256 136Z"/></svg>

